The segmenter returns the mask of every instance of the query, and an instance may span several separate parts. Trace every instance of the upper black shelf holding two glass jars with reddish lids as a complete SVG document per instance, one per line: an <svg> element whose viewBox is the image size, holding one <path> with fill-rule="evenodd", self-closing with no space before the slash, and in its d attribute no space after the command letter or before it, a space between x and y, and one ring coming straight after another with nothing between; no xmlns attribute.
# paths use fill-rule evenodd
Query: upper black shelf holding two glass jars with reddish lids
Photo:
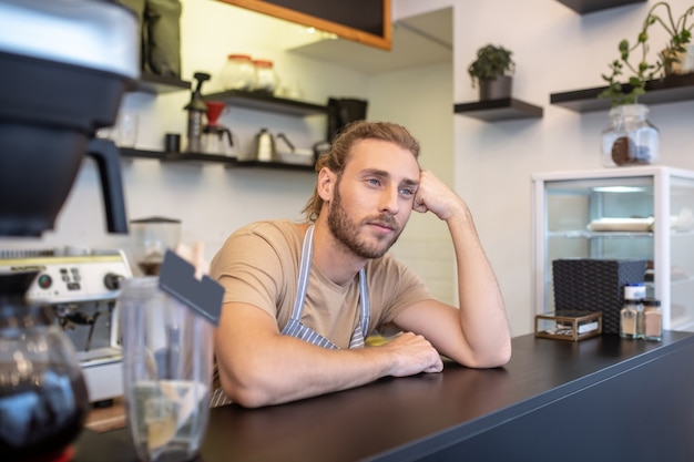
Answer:
<svg viewBox="0 0 694 462"><path fill-rule="evenodd" d="M307 103L297 100L276 97L265 93L228 90L220 93L203 95L205 101L222 101L236 107L246 107L257 111L274 112L287 115L327 114L327 106Z"/></svg>

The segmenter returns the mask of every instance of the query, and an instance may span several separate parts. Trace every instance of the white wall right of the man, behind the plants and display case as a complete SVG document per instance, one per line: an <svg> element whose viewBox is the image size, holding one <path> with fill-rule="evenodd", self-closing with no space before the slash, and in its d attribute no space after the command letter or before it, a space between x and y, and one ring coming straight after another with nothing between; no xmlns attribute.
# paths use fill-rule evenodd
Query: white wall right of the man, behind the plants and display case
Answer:
<svg viewBox="0 0 694 462"><path fill-rule="evenodd" d="M531 174L602 168L606 111L574 113L549 104L550 93L604 85L620 40L633 42L654 1L580 16L558 1L455 1L455 101L477 100L467 66L493 42L513 51L514 96L544 107L541 120L483 123L455 117L456 185L476 215L497 270L513 335L532 331ZM682 12L691 1L670 2ZM653 33L654 43L664 43ZM655 44L653 47L657 49ZM661 164L694 168L694 102L653 105Z"/></svg>

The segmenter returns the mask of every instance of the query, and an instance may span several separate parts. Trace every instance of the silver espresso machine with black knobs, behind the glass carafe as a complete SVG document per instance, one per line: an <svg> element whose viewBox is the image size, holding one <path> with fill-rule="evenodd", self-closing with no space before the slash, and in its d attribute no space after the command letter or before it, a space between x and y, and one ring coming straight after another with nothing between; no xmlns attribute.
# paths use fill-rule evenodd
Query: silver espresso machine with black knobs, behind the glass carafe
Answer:
<svg viewBox="0 0 694 462"><path fill-rule="evenodd" d="M0 274L38 270L25 292L29 305L50 306L74 346L89 400L105 405L123 396L122 346L116 301L121 280L132 277L122 250L0 250Z"/></svg>

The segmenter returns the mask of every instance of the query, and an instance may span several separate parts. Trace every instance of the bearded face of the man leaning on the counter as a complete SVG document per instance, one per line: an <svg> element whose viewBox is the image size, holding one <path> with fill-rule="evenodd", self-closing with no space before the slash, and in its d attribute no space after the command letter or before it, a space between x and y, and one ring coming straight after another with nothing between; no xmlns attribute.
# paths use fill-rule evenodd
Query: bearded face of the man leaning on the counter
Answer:
<svg viewBox="0 0 694 462"><path fill-rule="evenodd" d="M405 228L419 182L419 165L407 150L379 140L355 144L335 184L330 232L363 258L379 258Z"/></svg>

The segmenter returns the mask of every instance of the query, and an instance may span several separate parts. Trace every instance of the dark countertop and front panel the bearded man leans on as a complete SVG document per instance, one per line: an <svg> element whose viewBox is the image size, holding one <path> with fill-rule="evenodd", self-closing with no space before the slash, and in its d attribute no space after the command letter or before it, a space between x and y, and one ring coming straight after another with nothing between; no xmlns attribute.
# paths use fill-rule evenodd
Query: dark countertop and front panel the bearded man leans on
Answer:
<svg viewBox="0 0 694 462"><path fill-rule="evenodd" d="M504 368L447 362L294 403L211 410L202 461L694 460L694 333L513 339ZM74 462L135 462L125 429Z"/></svg>

